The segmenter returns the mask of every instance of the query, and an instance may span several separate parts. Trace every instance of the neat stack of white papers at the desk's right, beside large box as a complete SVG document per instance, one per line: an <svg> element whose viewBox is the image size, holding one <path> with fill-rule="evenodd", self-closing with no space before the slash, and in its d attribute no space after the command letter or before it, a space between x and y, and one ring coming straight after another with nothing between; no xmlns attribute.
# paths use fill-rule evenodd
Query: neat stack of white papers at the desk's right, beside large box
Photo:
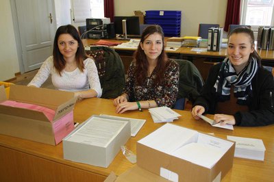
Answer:
<svg viewBox="0 0 274 182"><path fill-rule="evenodd" d="M264 142L255 138L242 138L227 135L228 140L236 142L235 157L264 161Z"/></svg>

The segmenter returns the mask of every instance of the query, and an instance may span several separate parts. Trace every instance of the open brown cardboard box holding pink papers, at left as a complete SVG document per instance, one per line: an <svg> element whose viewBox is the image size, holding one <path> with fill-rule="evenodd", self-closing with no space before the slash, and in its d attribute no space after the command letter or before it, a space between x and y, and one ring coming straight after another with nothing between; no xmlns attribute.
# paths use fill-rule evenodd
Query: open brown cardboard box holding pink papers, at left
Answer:
<svg viewBox="0 0 274 182"><path fill-rule="evenodd" d="M53 109L55 116L49 121L42 112L0 105L1 134L55 145L74 129L73 107L76 99L73 92L11 85L8 100ZM0 103L3 101L7 99L2 87Z"/></svg>

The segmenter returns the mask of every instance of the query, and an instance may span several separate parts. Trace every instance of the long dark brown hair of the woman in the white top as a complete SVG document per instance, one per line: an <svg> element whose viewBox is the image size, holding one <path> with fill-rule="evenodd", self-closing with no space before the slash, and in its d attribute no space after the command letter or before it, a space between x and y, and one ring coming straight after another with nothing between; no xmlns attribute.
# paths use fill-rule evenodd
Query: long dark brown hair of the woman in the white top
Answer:
<svg viewBox="0 0 274 182"><path fill-rule="evenodd" d="M58 48L58 38L61 34L70 34L73 37L73 39L77 40L78 48L75 54L76 64L79 70L84 72L84 60L86 60L88 55L86 55L84 44L79 36L78 31L75 27L73 27L73 25L60 26L56 31L53 42L53 65L55 69L61 76L61 72L62 70L64 70L66 66L66 61L64 60L64 57Z"/></svg>

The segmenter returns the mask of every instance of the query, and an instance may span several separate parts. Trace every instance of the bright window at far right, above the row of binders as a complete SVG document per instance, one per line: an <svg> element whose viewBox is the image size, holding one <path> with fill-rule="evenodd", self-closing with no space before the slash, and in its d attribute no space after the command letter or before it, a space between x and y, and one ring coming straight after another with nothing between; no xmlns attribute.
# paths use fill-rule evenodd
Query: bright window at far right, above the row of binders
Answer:
<svg viewBox="0 0 274 182"><path fill-rule="evenodd" d="M242 0L240 24L251 25L255 36L260 26L274 26L274 0Z"/></svg>

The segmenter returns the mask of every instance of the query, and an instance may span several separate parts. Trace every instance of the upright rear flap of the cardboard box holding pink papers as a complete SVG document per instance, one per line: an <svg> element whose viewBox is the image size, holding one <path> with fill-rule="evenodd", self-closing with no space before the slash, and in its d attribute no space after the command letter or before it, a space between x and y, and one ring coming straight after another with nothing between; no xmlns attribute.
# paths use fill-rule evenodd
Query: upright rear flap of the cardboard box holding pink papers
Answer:
<svg viewBox="0 0 274 182"><path fill-rule="evenodd" d="M74 93L47 88L11 85L9 99L12 101L34 103L49 107L50 109L56 109L66 101L74 99Z"/></svg>

